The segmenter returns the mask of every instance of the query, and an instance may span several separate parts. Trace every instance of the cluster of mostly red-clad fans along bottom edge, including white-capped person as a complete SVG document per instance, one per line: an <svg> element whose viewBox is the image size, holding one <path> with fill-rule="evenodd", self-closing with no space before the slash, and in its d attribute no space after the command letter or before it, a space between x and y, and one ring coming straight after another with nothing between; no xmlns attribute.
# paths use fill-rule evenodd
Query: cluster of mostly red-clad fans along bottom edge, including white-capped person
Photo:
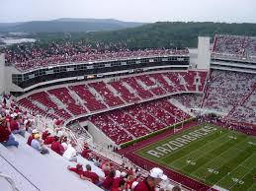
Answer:
<svg viewBox="0 0 256 191"><path fill-rule="evenodd" d="M143 174L138 168L128 167L125 164L114 167L109 160L103 160L100 167L105 177L92 171L92 166L87 164L85 169L82 164L67 166L67 169L75 172L81 179L91 181L105 191L180 191L181 188L169 183L163 170L154 167L148 174Z"/></svg>

